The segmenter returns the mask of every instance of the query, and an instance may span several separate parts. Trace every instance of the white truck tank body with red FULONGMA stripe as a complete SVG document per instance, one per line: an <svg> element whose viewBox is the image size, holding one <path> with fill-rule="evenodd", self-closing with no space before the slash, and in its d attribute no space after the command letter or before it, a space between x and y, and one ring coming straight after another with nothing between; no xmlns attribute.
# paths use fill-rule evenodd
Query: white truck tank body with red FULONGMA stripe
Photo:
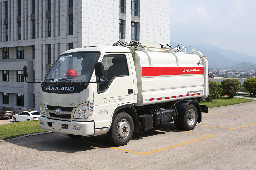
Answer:
<svg viewBox="0 0 256 170"><path fill-rule="evenodd" d="M208 61L199 51L137 48L137 106L208 97Z"/></svg>

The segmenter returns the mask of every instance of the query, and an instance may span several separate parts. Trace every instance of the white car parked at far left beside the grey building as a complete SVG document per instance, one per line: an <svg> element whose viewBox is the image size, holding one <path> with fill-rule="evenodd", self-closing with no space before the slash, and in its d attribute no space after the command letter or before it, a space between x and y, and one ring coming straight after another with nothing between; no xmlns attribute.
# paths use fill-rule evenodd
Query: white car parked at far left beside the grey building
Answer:
<svg viewBox="0 0 256 170"><path fill-rule="evenodd" d="M37 111L24 111L24 112L20 112L19 114L15 114L13 115L13 122L17 122L17 121L30 121L30 120L38 120L38 117L41 116L41 113L37 112Z"/></svg>

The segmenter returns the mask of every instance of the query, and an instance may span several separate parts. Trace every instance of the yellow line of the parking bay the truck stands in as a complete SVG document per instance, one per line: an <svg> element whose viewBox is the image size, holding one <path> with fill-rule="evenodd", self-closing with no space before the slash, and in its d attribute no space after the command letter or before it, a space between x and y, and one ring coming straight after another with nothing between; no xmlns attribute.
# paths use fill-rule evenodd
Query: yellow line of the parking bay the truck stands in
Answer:
<svg viewBox="0 0 256 170"><path fill-rule="evenodd" d="M166 130L169 130L169 129L166 129ZM182 132L184 132L184 131L182 131ZM186 133L192 133L192 132L186 132ZM205 134L200 134L200 133L193 133L193 134L205 135ZM184 144L187 144L187 143L195 142L195 141L198 141L198 140L201 140L201 139L205 139L205 138L208 138L208 137L212 137L212 136L213 136L213 135L207 135L206 137L203 137L203 138L200 138L200 139L192 140L192 141L185 142L185 143L180 143L180 144L178 144L178 145L173 145L173 146L169 146L169 147L162 148L162 149L157 149L157 150L150 151L150 152L146 152L146 153L133 152L133 151L129 151L129 150L124 150L124 149L115 148L115 147L109 147L109 146L101 145L101 144L98 144L98 143L87 142L87 141L83 141L83 142L91 143L91 144L99 145L99 146L104 146L104 147L107 147L107 148L117 149L117 150L121 150L121 151L126 151L126 152L131 152L131 153L137 153L137 154L140 154L140 155L146 155L146 154L149 154L149 153L153 153L153 152L165 150L165 149L168 149L168 148L173 148L173 147L175 147L175 146L184 145ZM74 139L74 140L81 141L81 140L78 140L78 139Z"/></svg>

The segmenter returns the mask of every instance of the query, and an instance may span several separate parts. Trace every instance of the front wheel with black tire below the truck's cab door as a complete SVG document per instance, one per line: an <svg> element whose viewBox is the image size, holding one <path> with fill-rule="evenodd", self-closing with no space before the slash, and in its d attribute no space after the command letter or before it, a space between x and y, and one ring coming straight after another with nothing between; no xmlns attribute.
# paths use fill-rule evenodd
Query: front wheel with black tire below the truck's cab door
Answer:
<svg viewBox="0 0 256 170"><path fill-rule="evenodd" d="M116 146L126 145L132 138L134 124L132 117L126 112L114 116L108 132L109 140Z"/></svg>

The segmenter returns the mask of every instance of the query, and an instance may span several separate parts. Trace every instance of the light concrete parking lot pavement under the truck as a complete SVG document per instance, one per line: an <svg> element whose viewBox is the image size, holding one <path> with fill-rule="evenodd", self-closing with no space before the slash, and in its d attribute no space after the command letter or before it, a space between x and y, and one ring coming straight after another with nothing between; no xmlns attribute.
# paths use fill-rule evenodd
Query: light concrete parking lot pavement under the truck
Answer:
<svg viewBox="0 0 256 170"><path fill-rule="evenodd" d="M107 135L48 133L0 141L1 169L255 169L256 101L208 109L202 124L134 133L114 147ZM2 121L2 120L1 120ZM6 120L5 120L6 121ZM10 119L11 121L11 119Z"/></svg>

